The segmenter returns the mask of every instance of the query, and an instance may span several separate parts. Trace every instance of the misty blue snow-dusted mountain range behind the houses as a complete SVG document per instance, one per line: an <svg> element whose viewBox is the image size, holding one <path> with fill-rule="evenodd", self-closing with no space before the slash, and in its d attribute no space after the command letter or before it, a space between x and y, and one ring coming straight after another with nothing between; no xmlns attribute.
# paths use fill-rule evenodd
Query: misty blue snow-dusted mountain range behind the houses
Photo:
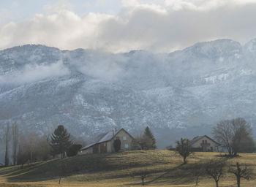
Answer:
<svg viewBox="0 0 256 187"><path fill-rule="evenodd" d="M0 51L0 134L50 134L59 124L91 137L150 126L158 147L211 135L222 119L256 121L256 39L200 42L173 53L105 53L24 45ZM4 151L1 151L1 158ZM1 160L0 160L1 162Z"/></svg>

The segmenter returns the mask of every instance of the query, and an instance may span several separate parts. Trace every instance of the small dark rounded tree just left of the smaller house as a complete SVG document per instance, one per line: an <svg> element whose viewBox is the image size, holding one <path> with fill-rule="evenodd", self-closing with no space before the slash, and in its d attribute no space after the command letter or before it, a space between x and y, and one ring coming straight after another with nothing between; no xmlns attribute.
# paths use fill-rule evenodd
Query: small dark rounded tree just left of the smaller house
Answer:
<svg viewBox="0 0 256 187"><path fill-rule="evenodd" d="M192 154L192 148L189 144L189 140L181 138L181 141L176 141L176 151L183 157L184 164L187 164L187 157Z"/></svg>

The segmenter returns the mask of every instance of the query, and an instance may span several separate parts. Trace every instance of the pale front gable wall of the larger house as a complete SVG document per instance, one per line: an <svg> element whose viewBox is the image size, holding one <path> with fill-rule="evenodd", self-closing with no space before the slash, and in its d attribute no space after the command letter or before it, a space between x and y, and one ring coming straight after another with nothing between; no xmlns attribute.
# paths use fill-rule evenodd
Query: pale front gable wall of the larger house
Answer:
<svg viewBox="0 0 256 187"><path fill-rule="evenodd" d="M126 131L124 131L123 129L121 131L118 132L118 134L116 134L116 136L109 142L110 146L109 146L109 150L110 152L115 152L115 148L114 148L114 141L116 140L116 138L119 138L119 140L121 141L121 148L120 151L124 151L124 150L131 150L131 146L132 146L132 137L129 136L129 134L126 133ZM124 138L126 137L126 138ZM126 139L126 140L125 140ZM127 147L128 146L128 147Z"/></svg>

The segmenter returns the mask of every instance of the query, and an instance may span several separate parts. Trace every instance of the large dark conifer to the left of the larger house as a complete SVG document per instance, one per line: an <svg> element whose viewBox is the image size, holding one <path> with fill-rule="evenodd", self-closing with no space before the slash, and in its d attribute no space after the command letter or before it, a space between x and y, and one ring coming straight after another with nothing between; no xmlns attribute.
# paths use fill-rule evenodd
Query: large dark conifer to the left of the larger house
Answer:
<svg viewBox="0 0 256 187"><path fill-rule="evenodd" d="M69 137L70 134L62 125L58 126L50 137L50 146L53 149L53 153L61 154L62 159L65 157L65 153L69 146L72 145L72 142L69 141Z"/></svg>

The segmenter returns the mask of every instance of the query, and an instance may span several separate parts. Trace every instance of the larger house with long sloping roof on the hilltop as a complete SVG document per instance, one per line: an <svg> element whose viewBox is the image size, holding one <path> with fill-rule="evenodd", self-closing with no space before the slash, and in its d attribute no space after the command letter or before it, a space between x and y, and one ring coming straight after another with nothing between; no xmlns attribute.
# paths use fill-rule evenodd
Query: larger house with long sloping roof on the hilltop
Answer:
<svg viewBox="0 0 256 187"><path fill-rule="evenodd" d="M86 145L81 148L78 152L79 155L89 154L89 153L113 153L115 152L113 143L115 140L121 141L120 151L131 150L132 140L134 138L126 130L112 130L105 134L100 135L97 141Z"/></svg>

